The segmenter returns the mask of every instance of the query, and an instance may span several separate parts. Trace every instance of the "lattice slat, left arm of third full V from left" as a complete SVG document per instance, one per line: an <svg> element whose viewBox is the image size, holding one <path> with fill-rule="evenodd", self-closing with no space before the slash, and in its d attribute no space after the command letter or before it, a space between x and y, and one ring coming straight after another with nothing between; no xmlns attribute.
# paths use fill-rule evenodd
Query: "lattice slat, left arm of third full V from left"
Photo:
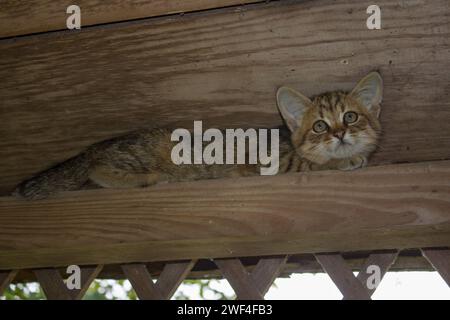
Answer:
<svg viewBox="0 0 450 320"><path fill-rule="evenodd" d="M264 295L255 286L250 274L239 259L216 259L214 262L219 267L223 276L236 293L240 300L263 300Z"/></svg>

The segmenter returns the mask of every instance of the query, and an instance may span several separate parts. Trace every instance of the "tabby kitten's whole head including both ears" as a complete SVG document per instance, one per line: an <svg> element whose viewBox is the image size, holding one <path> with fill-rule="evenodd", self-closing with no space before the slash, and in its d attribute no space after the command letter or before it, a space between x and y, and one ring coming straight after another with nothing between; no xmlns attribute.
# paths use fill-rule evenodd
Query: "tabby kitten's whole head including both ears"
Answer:
<svg viewBox="0 0 450 320"><path fill-rule="evenodd" d="M280 88L278 107L292 132L297 152L311 162L368 156L376 148L380 123L382 80L373 72L350 93L325 93L308 99Z"/></svg>

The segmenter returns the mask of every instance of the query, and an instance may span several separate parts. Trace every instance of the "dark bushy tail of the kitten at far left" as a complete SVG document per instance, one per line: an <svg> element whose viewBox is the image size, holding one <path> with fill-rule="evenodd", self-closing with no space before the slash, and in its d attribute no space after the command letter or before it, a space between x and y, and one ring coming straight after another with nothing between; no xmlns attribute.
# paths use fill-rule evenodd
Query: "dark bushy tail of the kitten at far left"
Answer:
<svg viewBox="0 0 450 320"><path fill-rule="evenodd" d="M22 182L13 195L38 200L60 191L79 189L89 179L91 167L89 152L81 153Z"/></svg>

